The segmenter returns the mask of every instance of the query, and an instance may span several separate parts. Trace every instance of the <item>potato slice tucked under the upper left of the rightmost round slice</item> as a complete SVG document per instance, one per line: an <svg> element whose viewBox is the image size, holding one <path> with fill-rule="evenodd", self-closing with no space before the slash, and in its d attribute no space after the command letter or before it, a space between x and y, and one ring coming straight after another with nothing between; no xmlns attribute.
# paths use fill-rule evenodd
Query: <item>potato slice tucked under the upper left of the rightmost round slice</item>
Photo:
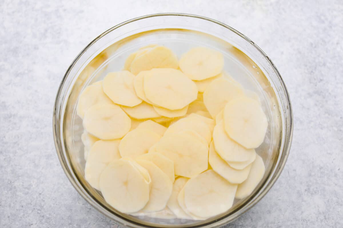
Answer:
<svg viewBox="0 0 343 228"><path fill-rule="evenodd" d="M226 103L237 95L244 95L242 86L233 79L213 80L204 91L204 104L213 118L225 107Z"/></svg>

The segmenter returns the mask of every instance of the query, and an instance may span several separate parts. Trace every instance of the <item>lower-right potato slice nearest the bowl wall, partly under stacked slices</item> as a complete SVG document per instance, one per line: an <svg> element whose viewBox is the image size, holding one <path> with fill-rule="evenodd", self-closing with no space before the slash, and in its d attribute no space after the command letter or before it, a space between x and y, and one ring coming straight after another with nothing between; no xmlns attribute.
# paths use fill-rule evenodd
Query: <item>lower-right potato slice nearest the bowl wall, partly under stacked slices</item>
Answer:
<svg viewBox="0 0 343 228"><path fill-rule="evenodd" d="M243 199L251 194L256 188L258 183L261 181L264 175L264 163L260 156L256 156L255 161L252 163L248 178L241 184L238 185L236 198Z"/></svg>

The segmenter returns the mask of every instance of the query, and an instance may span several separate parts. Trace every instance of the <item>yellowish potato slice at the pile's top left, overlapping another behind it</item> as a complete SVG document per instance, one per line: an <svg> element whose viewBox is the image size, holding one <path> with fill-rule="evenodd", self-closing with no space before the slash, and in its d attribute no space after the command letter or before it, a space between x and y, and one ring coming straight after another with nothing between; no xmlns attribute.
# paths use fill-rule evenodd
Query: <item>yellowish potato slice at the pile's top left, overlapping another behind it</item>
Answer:
<svg viewBox="0 0 343 228"><path fill-rule="evenodd" d="M165 46L155 46L147 52L136 56L130 65L130 71L137 75L143 70L153 68L174 68L179 66L177 56Z"/></svg>

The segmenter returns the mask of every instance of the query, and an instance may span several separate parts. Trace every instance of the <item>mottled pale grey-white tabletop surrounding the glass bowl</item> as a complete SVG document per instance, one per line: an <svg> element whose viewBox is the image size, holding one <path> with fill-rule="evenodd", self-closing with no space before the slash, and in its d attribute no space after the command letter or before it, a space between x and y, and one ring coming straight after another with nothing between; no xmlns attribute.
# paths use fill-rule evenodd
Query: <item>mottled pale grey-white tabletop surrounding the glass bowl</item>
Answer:
<svg viewBox="0 0 343 228"><path fill-rule="evenodd" d="M343 2L0 2L0 227L118 227L72 187L58 161L52 108L74 57L127 19L184 12L255 41L291 96L291 153L270 192L226 227L343 226Z"/></svg>

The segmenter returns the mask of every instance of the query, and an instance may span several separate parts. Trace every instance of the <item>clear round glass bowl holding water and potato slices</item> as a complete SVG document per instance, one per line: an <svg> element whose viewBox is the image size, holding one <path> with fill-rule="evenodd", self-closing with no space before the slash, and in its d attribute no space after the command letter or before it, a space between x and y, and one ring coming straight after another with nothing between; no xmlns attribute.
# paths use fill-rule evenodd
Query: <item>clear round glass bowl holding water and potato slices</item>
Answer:
<svg viewBox="0 0 343 228"><path fill-rule="evenodd" d="M131 216L116 211L85 180L82 120L76 104L85 86L107 72L122 69L127 56L148 44L170 47L178 56L193 46L221 51L225 71L245 88L257 93L269 126L256 150L265 163L265 174L255 190L235 200L226 213L203 221ZM219 227L255 205L279 177L291 147L292 109L285 84L269 57L250 39L213 19L178 13L153 14L123 22L95 38L71 63L60 84L53 116L54 139L64 172L87 202L104 215L127 227Z"/></svg>

